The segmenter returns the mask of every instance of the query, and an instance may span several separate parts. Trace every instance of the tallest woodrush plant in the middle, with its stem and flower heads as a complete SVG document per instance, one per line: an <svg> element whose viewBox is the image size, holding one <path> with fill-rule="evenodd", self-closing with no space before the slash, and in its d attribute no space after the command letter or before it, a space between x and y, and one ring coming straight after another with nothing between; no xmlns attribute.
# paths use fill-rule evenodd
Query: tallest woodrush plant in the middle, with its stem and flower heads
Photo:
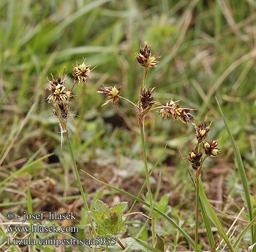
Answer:
<svg viewBox="0 0 256 252"><path fill-rule="evenodd" d="M167 102L166 106L162 105L158 101L153 101L152 93L153 93L153 90L155 90L155 87L147 89L145 82L146 82L146 75L147 75L148 69L157 67L157 64L159 63L157 59L159 57L151 55L150 46L147 45L147 42L144 42L144 44L145 44L144 47L141 47L140 45L139 52L135 54L135 57L138 63L143 67L142 84L140 86L139 98L137 103L135 104L132 101L121 96L120 95L121 87L117 88L116 86L114 87L103 86L100 88L100 91L98 91L98 93L104 94L109 97L108 100L102 106L108 104L109 102L118 105L119 99L123 99L129 102L130 104L132 104L135 111L137 112L138 125L140 128L141 148L142 148L143 161L144 161L144 172L145 172L149 208L150 208L149 215L151 217L152 245L155 246L156 245L155 217L153 213L153 199L152 199L152 193L151 193L151 187L150 187L150 181L149 181L149 175L148 175L148 165L147 165L146 146L145 146L145 137L144 137L144 118L149 111L157 110L159 114L161 114L165 119L171 119L172 117L177 119L177 117L179 117L182 122L189 124L191 123L191 118L193 118L192 114L190 114L190 111L194 109L184 108L179 104L176 105L176 102L174 102L172 99ZM152 106L155 104L158 106L152 108Z"/></svg>

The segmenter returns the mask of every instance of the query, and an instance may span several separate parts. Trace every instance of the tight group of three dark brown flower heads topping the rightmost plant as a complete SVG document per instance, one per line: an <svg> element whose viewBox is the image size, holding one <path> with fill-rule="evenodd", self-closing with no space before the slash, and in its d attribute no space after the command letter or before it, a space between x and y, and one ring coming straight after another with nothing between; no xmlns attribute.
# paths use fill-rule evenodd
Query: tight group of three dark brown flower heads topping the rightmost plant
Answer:
<svg viewBox="0 0 256 252"><path fill-rule="evenodd" d="M207 115L202 122L198 122L196 125L194 124L195 128L195 135L197 139L197 144L191 152L188 152L188 161L190 162L192 168L194 170L201 169L203 161L210 156L217 156L221 152L217 148L218 141L217 140L210 140L207 142L207 137L210 135L210 128L212 122L207 126ZM204 156L202 149L204 150Z"/></svg>

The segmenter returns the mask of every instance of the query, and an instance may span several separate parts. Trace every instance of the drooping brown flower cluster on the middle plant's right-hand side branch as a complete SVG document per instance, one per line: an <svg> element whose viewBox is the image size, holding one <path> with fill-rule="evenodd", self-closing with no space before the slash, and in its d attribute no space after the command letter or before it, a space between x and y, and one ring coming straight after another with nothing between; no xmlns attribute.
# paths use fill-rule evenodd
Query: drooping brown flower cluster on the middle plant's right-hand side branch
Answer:
<svg viewBox="0 0 256 252"><path fill-rule="evenodd" d="M169 120L171 120L171 118L174 117L177 120L177 117L179 117L182 122L188 124L191 123L191 119L194 118L194 116L189 113L192 110L195 109L184 108L179 104L176 105L171 99L167 102L166 106L164 106L164 108L160 109L158 112L159 114L162 114L165 119L170 117Z"/></svg>

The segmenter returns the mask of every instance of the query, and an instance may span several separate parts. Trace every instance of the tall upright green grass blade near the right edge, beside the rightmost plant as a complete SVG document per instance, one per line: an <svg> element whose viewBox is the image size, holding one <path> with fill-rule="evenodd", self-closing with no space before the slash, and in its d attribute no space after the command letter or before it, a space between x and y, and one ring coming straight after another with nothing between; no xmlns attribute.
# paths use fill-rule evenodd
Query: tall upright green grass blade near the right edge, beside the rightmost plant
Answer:
<svg viewBox="0 0 256 252"><path fill-rule="evenodd" d="M218 101L218 99L216 98L216 101L217 101L217 104L219 106L219 109L220 109L220 112L221 112L221 116L224 120L224 123L225 123L225 126L226 126L226 130L227 130L227 133L228 133L228 137L229 137L229 140L231 142L231 146L233 148L233 152L234 152L234 156L235 156L235 160L236 160L236 164L237 164L237 168L238 168L238 171L239 171L239 174L240 174L240 177L241 177L241 180L242 180L242 185L243 185L243 190L244 190L244 195L245 195L245 200L246 200L246 204L247 204L247 207L248 207L248 212L249 212L249 217L250 217L250 221L252 220L253 218L253 215L252 215L252 208L251 208L251 202L250 202L250 194L249 194L249 188L248 188L248 183L247 183L247 179L246 179L246 174L245 174L245 171L244 171L244 166L243 166L243 162L242 162L242 157L241 157L241 154L239 152L239 149L238 147L236 146L235 144L235 141L234 141L234 138L230 132L230 129L228 127L228 123L227 123L227 120L223 114L223 111L221 109L221 105ZM254 243L255 241L253 240L253 226L251 226L251 241L252 243Z"/></svg>

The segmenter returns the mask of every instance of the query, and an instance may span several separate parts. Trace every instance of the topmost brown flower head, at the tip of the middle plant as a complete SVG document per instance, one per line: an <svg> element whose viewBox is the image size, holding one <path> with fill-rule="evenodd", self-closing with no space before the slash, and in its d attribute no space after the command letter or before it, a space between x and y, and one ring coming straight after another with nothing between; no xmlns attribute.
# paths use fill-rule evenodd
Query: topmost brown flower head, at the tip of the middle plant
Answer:
<svg viewBox="0 0 256 252"><path fill-rule="evenodd" d="M145 47L139 48L139 53L135 54L135 57L137 58L137 61L139 64L144 68L156 68L159 61L156 59L159 57L151 56L150 52L150 46L147 45L147 42L145 41ZM141 46L141 45L140 45Z"/></svg>

